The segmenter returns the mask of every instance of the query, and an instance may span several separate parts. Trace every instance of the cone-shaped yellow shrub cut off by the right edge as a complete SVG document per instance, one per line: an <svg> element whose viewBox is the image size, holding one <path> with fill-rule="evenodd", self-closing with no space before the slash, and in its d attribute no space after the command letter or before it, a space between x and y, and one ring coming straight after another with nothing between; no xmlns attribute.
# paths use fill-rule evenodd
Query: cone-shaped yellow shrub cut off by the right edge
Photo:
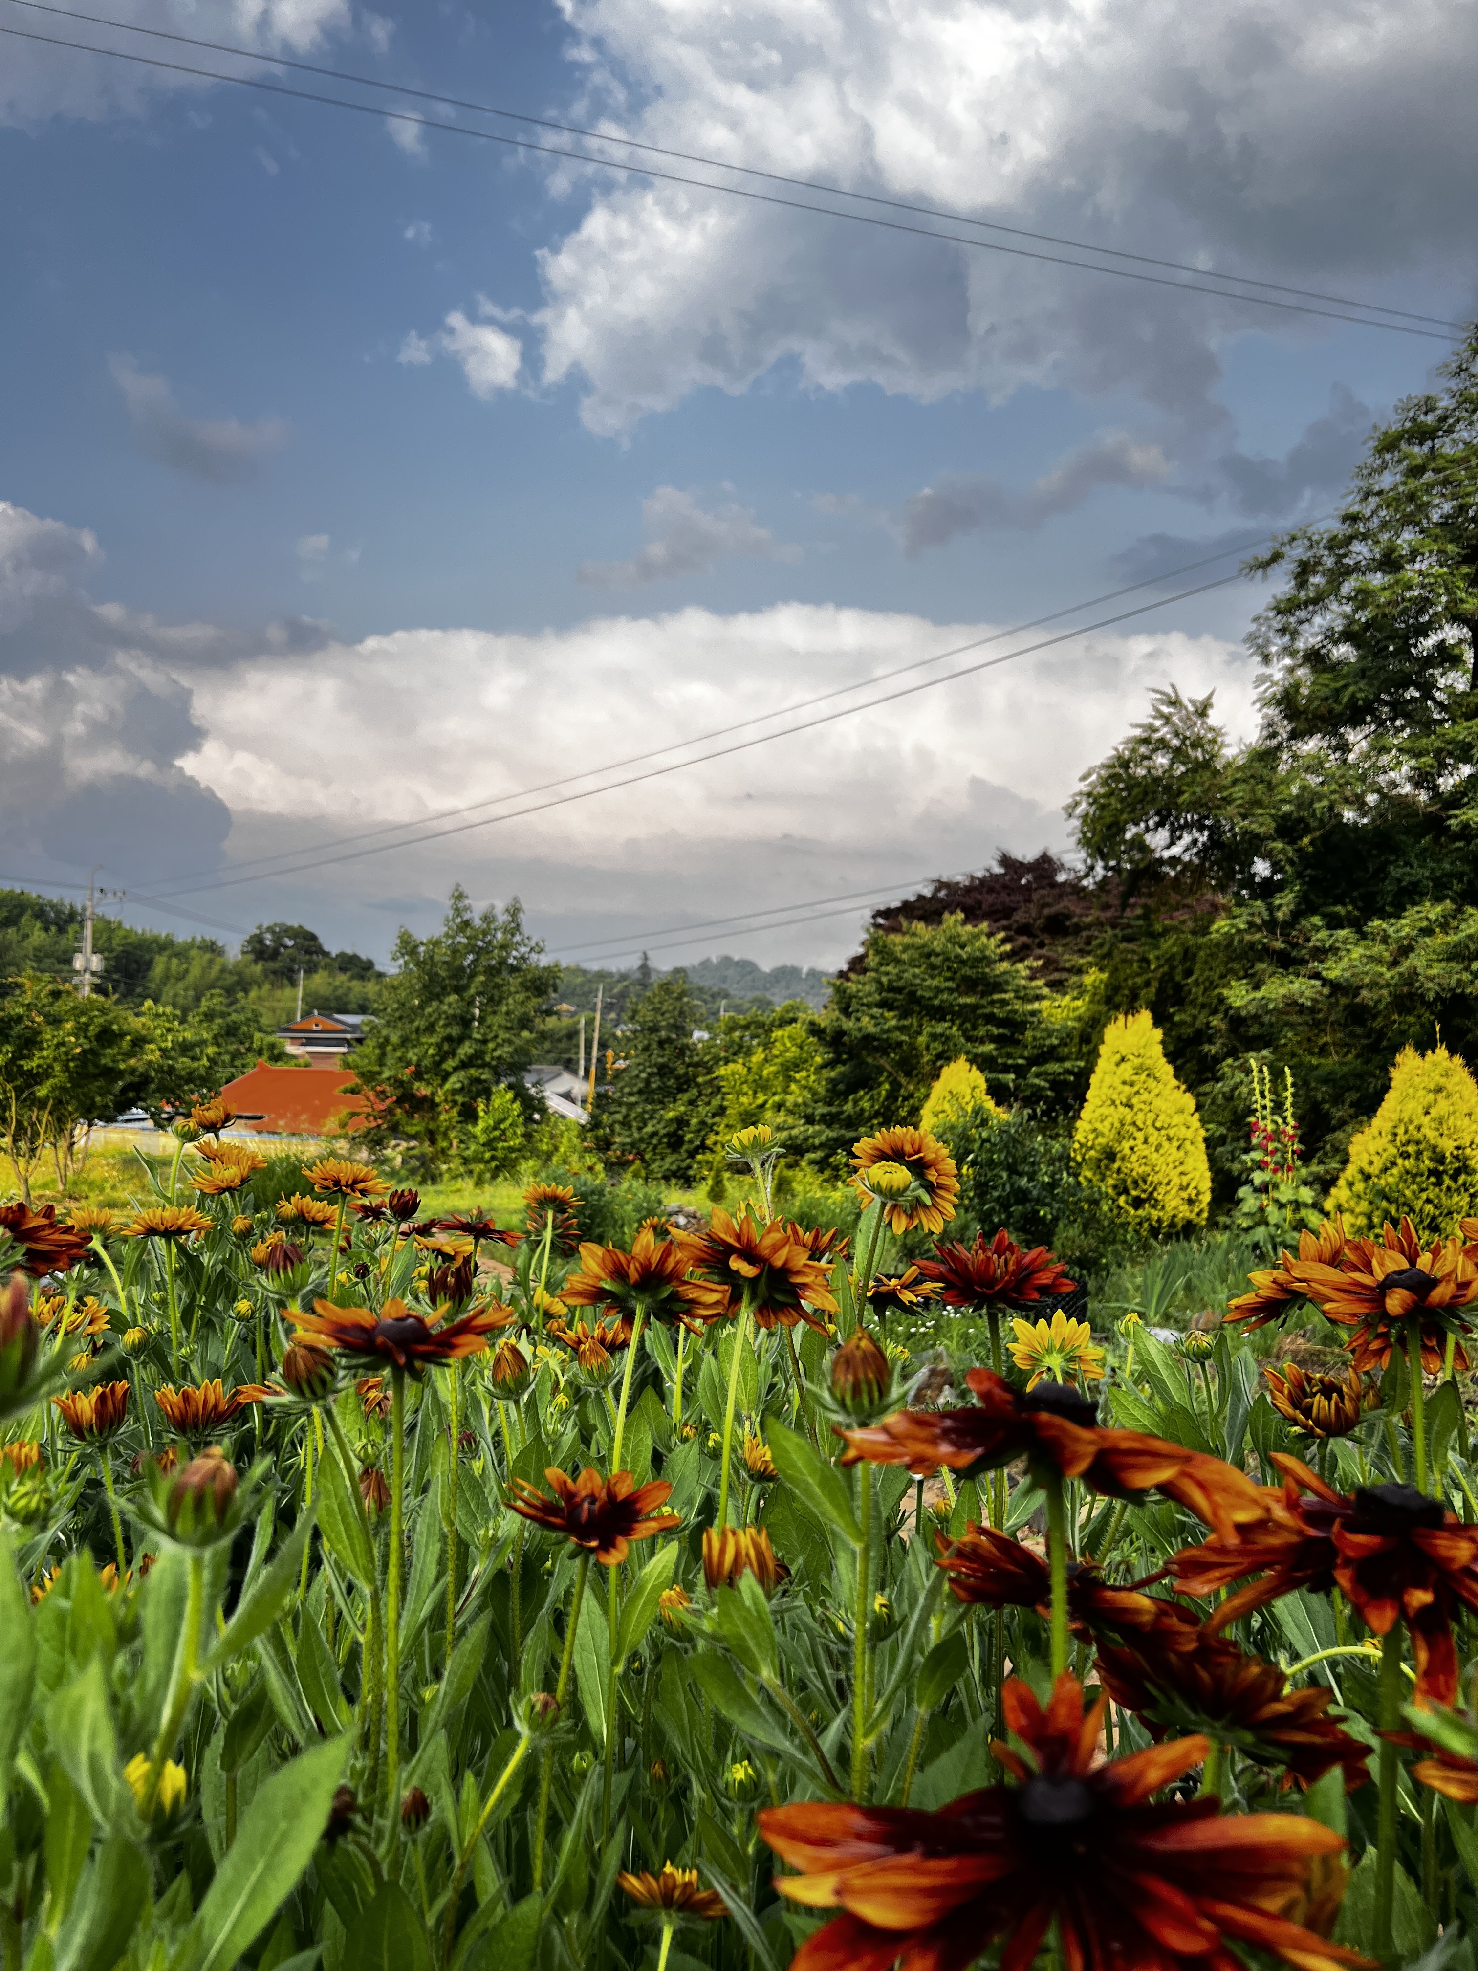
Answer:
<svg viewBox="0 0 1478 1971"><path fill-rule="evenodd" d="M1328 1208L1366 1234L1405 1212L1423 1238L1444 1238L1478 1212L1478 1082L1456 1054L1401 1049Z"/></svg>

